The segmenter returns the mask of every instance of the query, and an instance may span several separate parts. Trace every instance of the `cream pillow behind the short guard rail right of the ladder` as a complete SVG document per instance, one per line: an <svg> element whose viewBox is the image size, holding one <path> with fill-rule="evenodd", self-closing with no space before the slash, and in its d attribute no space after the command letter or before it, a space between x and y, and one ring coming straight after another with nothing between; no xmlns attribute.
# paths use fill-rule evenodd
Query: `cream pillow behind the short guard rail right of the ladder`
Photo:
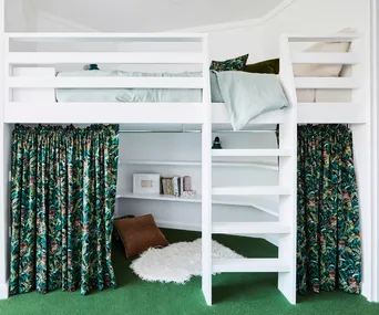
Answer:
<svg viewBox="0 0 379 315"><path fill-rule="evenodd" d="M351 33L351 29L344 29L339 33ZM319 42L305 52L336 52L344 53L348 52L350 48L350 42ZM295 76L339 76L342 70L342 64L294 64L294 75Z"/></svg>

